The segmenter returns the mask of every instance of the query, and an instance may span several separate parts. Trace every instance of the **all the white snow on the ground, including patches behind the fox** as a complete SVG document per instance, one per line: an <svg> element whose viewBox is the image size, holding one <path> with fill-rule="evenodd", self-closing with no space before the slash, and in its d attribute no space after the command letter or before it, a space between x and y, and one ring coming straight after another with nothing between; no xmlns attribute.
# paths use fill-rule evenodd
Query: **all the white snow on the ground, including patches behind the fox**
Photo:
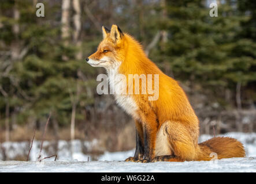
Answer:
<svg viewBox="0 0 256 184"><path fill-rule="evenodd" d="M228 136L242 141L246 148L246 158L231 158L214 160L210 162L157 162L157 163L133 163L121 162L128 156L133 156L135 150L125 152L105 152L98 156L99 161L87 162L88 156L83 154L81 144L90 150L97 145L97 140L92 142L81 142L75 140L72 143L73 154L70 145L66 141L58 143L58 159L46 159L36 162L39 152L40 141L35 141L32 147L30 160L32 162L0 161L0 172L256 172L256 133L227 133ZM199 142L210 139L212 136L202 135ZM44 147L47 147L47 141ZM17 154L18 149L27 148L27 143L3 143L9 158ZM21 154L21 153L20 153ZM44 156L49 156L44 155ZM1 157L0 157L1 159Z"/></svg>

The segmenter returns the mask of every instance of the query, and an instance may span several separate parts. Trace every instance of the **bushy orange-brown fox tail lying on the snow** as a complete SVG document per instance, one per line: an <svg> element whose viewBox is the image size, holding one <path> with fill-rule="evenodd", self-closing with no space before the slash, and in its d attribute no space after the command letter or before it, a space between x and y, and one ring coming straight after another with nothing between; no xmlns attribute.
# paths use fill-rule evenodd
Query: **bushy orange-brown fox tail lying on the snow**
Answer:
<svg viewBox="0 0 256 184"><path fill-rule="evenodd" d="M243 144L230 137L214 137L199 144L198 160L211 160L211 153L218 159L246 156Z"/></svg>

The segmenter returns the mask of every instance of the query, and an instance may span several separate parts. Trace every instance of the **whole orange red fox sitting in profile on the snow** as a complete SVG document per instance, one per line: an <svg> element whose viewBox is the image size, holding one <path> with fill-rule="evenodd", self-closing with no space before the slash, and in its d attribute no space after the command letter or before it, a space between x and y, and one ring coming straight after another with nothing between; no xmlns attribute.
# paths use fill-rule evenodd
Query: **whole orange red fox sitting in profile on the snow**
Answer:
<svg viewBox="0 0 256 184"><path fill-rule="evenodd" d="M154 89L159 96L149 100L152 93L115 94L118 105L135 120L136 150L133 157L125 161L132 162L183 162L190 160L211 160L212 153L218 159L244 157L243 144L229 137L214 137L198 144L199 120L192 109L187 96L175 79L165 75L146 56L142 46L117 25L111 30L102 27L103 40L97 52L86 61L93 67L104 67L107 73L123 74L127 81L129 75L158 75L158 83L153 80ZM110 89L120 86L120 81L109 79ZM133 78L132 85L135 83ZM141 82L142 83L142 82ZM125 83L125 92L129 82ZM147 84L149 85L149 84ZM139 86L141 92L143 85ZM133 89L133 91L136 89Z"/></svg>

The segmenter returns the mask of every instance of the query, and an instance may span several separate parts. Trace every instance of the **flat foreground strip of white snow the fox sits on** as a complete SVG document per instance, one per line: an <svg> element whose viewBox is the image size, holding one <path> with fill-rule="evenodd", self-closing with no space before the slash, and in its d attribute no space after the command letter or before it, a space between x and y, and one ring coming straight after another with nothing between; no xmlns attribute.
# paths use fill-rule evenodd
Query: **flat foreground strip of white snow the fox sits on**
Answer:
<svg viewBox="0 0 256 184"><path fill-rule="evenodd" d="M133 163L92 162L0 162L0 172L256 172L256 158L231 158L212 161Z"/></svg>

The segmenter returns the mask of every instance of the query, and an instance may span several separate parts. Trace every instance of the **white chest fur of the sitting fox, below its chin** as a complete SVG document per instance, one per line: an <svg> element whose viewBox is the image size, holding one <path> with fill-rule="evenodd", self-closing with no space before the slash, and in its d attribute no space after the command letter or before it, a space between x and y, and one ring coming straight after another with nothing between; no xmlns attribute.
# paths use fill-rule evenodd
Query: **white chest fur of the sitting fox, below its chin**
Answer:
<svg viewBox="0 0 256 184"><path fill-rule="evenodd" d="M138 118L138 114L136 113L138 110L138 105L131 95L125 93L127 89L125 82L126 80L121 79L121 75L118 73L118 67L119 66L108 72L110 91L112 91L112 94L114 93L117 104L121 106L125 112L127 112L133 118Z"/></svg>

